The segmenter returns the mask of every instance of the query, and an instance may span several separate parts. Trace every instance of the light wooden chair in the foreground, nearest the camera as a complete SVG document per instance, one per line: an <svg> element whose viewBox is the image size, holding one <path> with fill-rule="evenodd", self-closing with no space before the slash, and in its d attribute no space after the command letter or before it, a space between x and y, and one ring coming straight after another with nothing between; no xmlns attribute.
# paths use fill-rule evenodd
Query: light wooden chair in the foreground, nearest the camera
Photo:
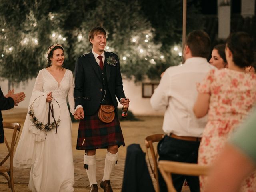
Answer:
<svg viewBox="0 0 256 192"><path fill-rule="evenodd" d="M182 175L208 175L210 167L198 165L196 163L182 163L174 161L159 161L158 168L166 182L168 192L177 192L172 183L171 174L182 174Z"/></svg>

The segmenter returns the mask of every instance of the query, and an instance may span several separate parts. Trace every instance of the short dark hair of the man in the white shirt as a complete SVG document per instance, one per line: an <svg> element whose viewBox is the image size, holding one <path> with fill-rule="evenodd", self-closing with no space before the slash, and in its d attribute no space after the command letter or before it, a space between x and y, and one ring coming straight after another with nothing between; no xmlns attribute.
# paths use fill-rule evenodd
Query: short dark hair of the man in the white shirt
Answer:
<svg viewBox="0 0 256 192"><path fill-rule="evenodd" d="M193 57L208 58L210 54L211 40L208 34L202 30L194 30L188 34L186 45L190 48Z"/></svg>

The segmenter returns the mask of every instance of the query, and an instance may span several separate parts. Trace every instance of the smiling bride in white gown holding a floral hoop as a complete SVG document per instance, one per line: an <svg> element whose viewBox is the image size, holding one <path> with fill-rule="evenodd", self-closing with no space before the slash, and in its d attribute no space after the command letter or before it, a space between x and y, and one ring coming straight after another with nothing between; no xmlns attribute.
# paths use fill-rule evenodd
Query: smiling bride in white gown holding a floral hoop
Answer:
<svg viewBox="0 0 256 192"><path fill-rule="evenodd" d="M74 114L74 80L62 67L60 44L48 48L48 67L39 71L29 112L14 155L14 166L30 167L32 192L74 192L70 112Z"/></svg>

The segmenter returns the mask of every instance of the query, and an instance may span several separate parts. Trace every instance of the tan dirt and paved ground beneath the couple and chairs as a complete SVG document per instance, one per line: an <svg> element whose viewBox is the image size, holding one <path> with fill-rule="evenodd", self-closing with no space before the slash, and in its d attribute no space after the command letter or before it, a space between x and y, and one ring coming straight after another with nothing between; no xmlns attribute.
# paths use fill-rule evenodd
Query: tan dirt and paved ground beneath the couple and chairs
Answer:
<svg viewBox="0 0 256 192"><path fill-rule="evenodd" d="M26 117L26 111L24 110L15 111L15 109L13 109L3 113L3 118L5 122L18 122L22 126L23 126L25 117ZM113 174L111 175L111 177L113 177L114 182L116 182L116 180L119 180L120 182L120 184L116 185L115 188L112 185L114 192L120 192L122 188L122 177L123 177L124 160L126 158L126 147L132 143L137 143L137 144L140 144L142 150L146 152L146 148L144 146L144 139L146 138L146 136L151 134L163 133L162 131L163 117L162 116L138 116L138 118L140 119L140 121L121 121L120 122L126 146L125 147L121 146L118 150L119 152L118 159L121 160L121 164L122 164L120 165L121 166L120 174L119 175L114 174L114 176L112 176ZM77 131L78 131L78 123L73 123L72 124L72 148L73 148L74 160L75 158L80 158L80 157L82 158L82 156L84 155L84 152L82 150L76 150ZM10 133L8 132L6 132L6 138L7 137L9 138L11 137ZM6 148L4 148L4 144L0 144L1 153L4 152L4 150L6 150ZM104 159L105 154L106 154L106 150L100 149L100 150L97 150L96 152L97 158L99 157ZM104 164L103 161L102 161L102 164ZM80 166L77 169L76 169L76 165L74 167L75 167L75 175L76 175L76 172L78 169L80 169ZM86 173L84 170L82 170L82 168L81 168L81 172L86 177ZM15 172L14 172L14 176L15 176ZM154 179L152 180L155 184ZM22 182L16 182L14 178L14 186L15 186L16 192L29 192L28 180L22 183ZM86 187L79 184L76 185L76 181L75 181L74 189L75 189L75 192L89 191L88 186ZM4 182L2 178L0 180L0 191L11 192L11 190L8 189L7 182ZM186 188L182 191L189 192L189 190L187 190ZM99 192L103 192L103 190L100 187L99 187Z"/></svg>

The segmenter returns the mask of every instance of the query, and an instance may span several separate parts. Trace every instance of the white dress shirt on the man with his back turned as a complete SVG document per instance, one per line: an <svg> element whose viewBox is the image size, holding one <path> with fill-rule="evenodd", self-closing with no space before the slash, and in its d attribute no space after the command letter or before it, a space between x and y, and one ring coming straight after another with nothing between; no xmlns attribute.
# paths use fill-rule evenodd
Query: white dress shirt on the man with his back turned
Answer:
<svg viewBox="0 0 256 192"><path fill-rule="evenodd" d="M150 102L155 110L165 110L163 130L166 134L202 137L207 117L197 119L193 112L198 95L196 83L202 82L213 68L205 58L192 57L165 71Z"/></svg>

